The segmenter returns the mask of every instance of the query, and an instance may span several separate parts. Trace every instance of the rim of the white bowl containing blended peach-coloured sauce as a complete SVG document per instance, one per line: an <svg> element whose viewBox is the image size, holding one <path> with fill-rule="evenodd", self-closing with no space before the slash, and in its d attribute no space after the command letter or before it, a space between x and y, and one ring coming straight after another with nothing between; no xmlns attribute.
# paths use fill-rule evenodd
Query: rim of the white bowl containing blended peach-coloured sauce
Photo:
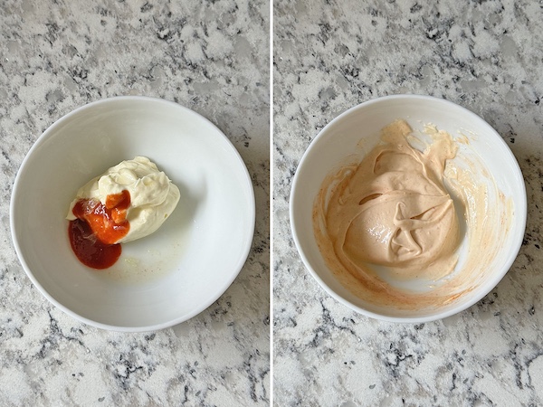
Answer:
<svg viewBox="0 0 543 407"><path fill-rule="evenodd" d="M329 131L329 128L332 128L333 126L336 125L336 123L338 123L338 121L341 121L347 116L350 116L357 110L367 109L369 106L372 106L375 104L381 104L381 103L386 103L392 100L402 100L402 99L411 100L411 101L426 100L426 101L433 101L434 103L442 103L445 106L458 109L459 111L461 111L462 115L468 116L476 121L480 121L481 124L484 125L484 127L489 129L489 133L492 135L491 137L495 138L495 140L492 140L492 141L499 142L502 144L503 147L505 147L504 151L506 151L507 152L506 154L510 156L511 164L514 167L514 170L516 173L515 175L517 175L519 179L522 180L522 182L519 185L519 188L521 190L520 191L521 194L519 194L520 206L517 207L517 205L515 205L515 217L519 218L516 222L519 224L520 226L519 231L522 231L522 233L519 233L519 239L517 241L514 241L514 244L511 246L511 251L510 251L511 256L501 266L500 273L497 273L493 278L487 281L483 285L483 287L486 287L486 288L481 289L481 292L478 295L472 296L472 298L470 298L469 301L463 302L462 304L459 304L459 306L457 307L450 308L448 310L441 311L441 312L432 313L424 317L392 317L388 315L378 314L366 308L358 307L356 304L353 304L347 298L343 298L342 296L340 296L334 289L329 287L329 285L323 279L319 277L319 274L317 273L317 271L313 270L313 268L311 267L310 260L308 259L305 252L303 251L303 247L299 238L299 233L296 228L296 222L294 222L294 206L298 200L299 189L297 188L297 186L300 182L299 170L302 166L304 166L306 160L308 159L308 156L310 156L310 150L312 149L312 147L314 147L315 144L319 142L320 138L325 137L326 133ZM385 322L423 323L423 322L431 322L438 319L443 319L445 317L451 317L452 315L458 314L462 312L463 310L472 307L474 304L479 302L481 298L486 297L491 292L491 290L494 289L500 283L500 280L503 279L503 277L505 277L505 275L510 270L513 262L517 259L519 255L520 247L522 246L523 236L526 231L526 222L528 218L528 202L527 202L527 194L526 194L526 185L525 185L524 177L522 175L522 171L520 170L520 166L519 166L519 162L517 158L513 155L510 147L507 145L505 140L500 136L500 134L494 128L491 127L491 125L486 120L481 118L479 115L473 113L472 110L466 109L447 99L436 98L436 97L428 96L428 95L396 94L396 95L383 96L376 99L369 99L362 103L357 104L356 106L353 106L345 110L344 112L339 114L336 118L333 118L331 121L329 121L329 123L319 131L317 136L311 140L310 146L306 148L305 152L300 158L299 165L296 168L296 173L292 180L291 197L290 197L290 205L289 205L289 217L290 217L290 222L291 222L292 238L294 240L294 244L300 255L300 259L302 260L306 270L310 272L310 275L314 279L317 280L317 282L319 283L319 286L322 289L324 289L332 298L335 298L336 300L338 300L339 303L357 311L357 313L359 314L365 315L366 317L372 317L372 318L385 321Z"/></svg>

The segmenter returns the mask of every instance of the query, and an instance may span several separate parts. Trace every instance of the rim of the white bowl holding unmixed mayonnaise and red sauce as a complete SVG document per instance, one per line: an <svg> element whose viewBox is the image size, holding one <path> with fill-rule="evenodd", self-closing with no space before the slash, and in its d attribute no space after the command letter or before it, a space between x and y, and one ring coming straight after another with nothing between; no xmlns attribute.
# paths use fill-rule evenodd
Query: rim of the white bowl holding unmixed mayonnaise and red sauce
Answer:
<svg viewBox="0 0 543 407"><path fill-rule="evenodd" d="M54 130L56 130L56 128L61 127L64 124L64 122L71 119L73 116L76 116L76 115L80 114L81 111L83 111L83 110L94 109L99 105L101 106L101 105L108 104L108 103L117 103L119 101L126 101L126 100L151 102L151 103L161 103L161 104L173 107L175 109L184 110L187 114L195 116L196 118L198 118L200 120L203 120L207 125L214 128L214 130L217 132L217 136L220 136L220 137L224 138L224 141L226 142L226 145L232 150L233 155L235 156L235 158L239 162L240 167L241 167L240 169L243 171L244 181L246 182L246 185L247 185L247 192L249 193L249 197L250 197L250 199L247 202L247 204L248 204L247 210L249 212L248 213L248 219L250 221L249 225L247 227L247 233L248 233L247 234L247 240L246 240L246 243L245 243L245 245L243 247L243 250L241 251L242 254L240 255L238 263L236 263L235 267L233 268L233 273L231 275L231 278L225 281L224 287L218 291L219 295L210 297L207 301L203 302L199 307L196 307L192 312L184 315L183 317L176 317L176 318L169 319L169 320L167 320L165 322L161 322L161 323L154 324L154 325L149 325L149 326L141 326L141 327L139 327L139 326L138 327L129 327L129 326L110 325L110 324L101 323L99 321L95 321L95 320L90 319L88 317L82 317L77 312L74 312L70 308L67 308L66 306L64 306L56 298L53 298L52 295L46 289L43 288L43 286L40 284L38 279L36 279L36 277L33 275L33 271L30 270L30 267L28 266L26 260L24 259L23 251L21 249L21 244L19 243L18 238L17 238L16 224L15 224L15 221L14 221L14 218L15 218L14 213L16 211L16 209L14 208L14 200L16 199L15 197L19 194L19 189L21 187L20 186L20 179L21 179L22 174L24 173L24 169L25 169L28 161L30 159L32 159L32 156L33 156L33 154L35 154L35 151L37 149L39 149L42 146L42 144L47 141L47 139L49 137L52 137L52 133L54 132ZM255 196L254 196L254 187L252 185L252 178L251 178L251 175L249 173L249 170L248 170L247 166L245 165L245 162L243 161L242 156L240 155L237 148L233 146L232 141L228 137L226 137L224 132L220 128L218 128L211 120L209 120L208 118L205 118L200 113L197 113L192 109L188 109L185 106L182 106L182 105L180 105L180 104L178 104L178 103L176 103L174 101L171 101L171 100L160 99L160 98L155 98L155 97L148 97L148 96L138 96L138 95L131 96L130 95L130 96L115 96L115 97L110 97L110 98L98 99L98 100L94 100L94 101L92 101L90 103L84 104L84 105L82 105L82 106L80 106L80 107L78 107L76 109L73 109L70 112L66 113L61 118L56 119L52 123L52 125L50 125L48 128L46 128L43 131L43 133L35 140L35 142L33 143L33 146L30 147L30 149L28 150L28 152L24 156L24 159L23 159L23 161L21 163L21 166L19 166L19 168L17 170L17 174L15 175L14 185L12 186L12 191L11 191L9 217L10 217L11 237L12 237L12 241L14 243L14 249L15 249L15 253L17 255L17 258L18 258L19 262L21 263L25 274L32 281L34 287L36 287L36 289L38 289L38 291L40 291L40 293L43 295L43 297L47 298L49 300L49 302L52 303L53 306L55 306L57 308L60 308L64 313L68 314L69 316L71 316L71 317L73 317L73 318L75 318L75 319L77 319L77 320L79 320L79 321L81 321L81 322L83 322L83 323L85 323L85 324L87 324L89 326L98 327L100 329L105 329L105 330L110 330L110 331L115 331L115 332L136 333L136 332L157 331L157 330L160 330L160 329L165 329L167 327L176 326L177 324L181 324L181 323L187 321L188 319L190 319L192 317L195 317L196 315L200 314L206 308L209 308L218 298L221 298L224 295L224 292L232 285L233 280L237 278L237 276L239 275L239 273L243 269L243 266L244 266L244 264L246 263L246 261L247 261L247 259L249 257L249 253L251 251L252 243L253 243L253 240L254 240L254 229L255 229L255 222L256 222L256 220L255 220L255 212L256 212L255 206L256 206L256 203L255 203Z"/></svg>

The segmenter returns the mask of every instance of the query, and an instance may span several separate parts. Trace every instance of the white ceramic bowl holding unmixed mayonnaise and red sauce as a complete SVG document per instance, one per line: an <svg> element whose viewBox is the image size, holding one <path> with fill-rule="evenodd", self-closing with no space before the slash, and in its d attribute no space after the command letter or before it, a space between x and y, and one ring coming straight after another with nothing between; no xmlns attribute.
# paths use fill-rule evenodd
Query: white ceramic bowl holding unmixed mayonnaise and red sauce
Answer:
<svg viewBox="0 0 543 407"><path fill-rule="evenodd" d="M125 243L108 270L71 251L65 220L77 189L110 166L148 156L181 191L154 234ZM252 244L254 195L241 156L211 122L161 99L103 99L72 111L36 141L15 178L14 247L52 304L95 327L170 327L210 306Z"/></svg>

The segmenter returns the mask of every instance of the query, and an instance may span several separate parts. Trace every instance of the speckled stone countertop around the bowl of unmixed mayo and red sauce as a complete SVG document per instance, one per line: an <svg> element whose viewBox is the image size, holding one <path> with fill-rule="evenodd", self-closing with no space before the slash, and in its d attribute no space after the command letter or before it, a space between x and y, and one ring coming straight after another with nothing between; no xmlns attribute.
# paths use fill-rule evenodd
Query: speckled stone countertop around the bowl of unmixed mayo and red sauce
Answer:
<svg viewBox="0 0 543 407"><path fill-rule="evenodd" d="M269 3L0 2L0 405L268 405ZM118 95L209 118L252 176L252 251L222 298L176 327L119 334L54 308L9 231L15 174L43 130Z"/></svg>

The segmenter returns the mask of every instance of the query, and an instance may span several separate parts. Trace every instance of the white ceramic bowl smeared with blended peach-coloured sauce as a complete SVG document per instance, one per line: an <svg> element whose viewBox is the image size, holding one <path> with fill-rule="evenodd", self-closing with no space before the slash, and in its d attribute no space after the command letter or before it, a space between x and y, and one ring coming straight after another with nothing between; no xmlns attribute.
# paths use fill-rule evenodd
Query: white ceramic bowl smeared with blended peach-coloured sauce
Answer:
<svg viewBox="0 0 543 407"><path fill-rule="evenodd" d="M470 154L469 151L476 154L493 175L505 199L512 202L513 219L508 220L510 229L504 239L492 243L499 245L494 248L498 254L488 264L480 265L481 270L485 271L481 273L483 277L477 286L457 300L433 309L398 310L357 297L340 284L329 270L313 232L312 208L324 178L337 171L348 161L348 157L355 157L355 161L359 161L376 146L380 130L398 118L406 119L414 129L433 123L452 137L462 133L469 140L469 148L461 145L457 156ZM368 317L395 322L424 322L448 317L469 308L487 295L510 269L519 252L526 215L524 180L515 157L500 135L471 111L444 99L425 96L397 95L370 100L332 120L315 137L301 158L291 189L292 234L300 257L311 275L332 297L348 307ZM465 239L462 244L467 244ZM461 247L459 251L465 252L467 248ZM459 265L462 267L460 260Z"/></svg>

